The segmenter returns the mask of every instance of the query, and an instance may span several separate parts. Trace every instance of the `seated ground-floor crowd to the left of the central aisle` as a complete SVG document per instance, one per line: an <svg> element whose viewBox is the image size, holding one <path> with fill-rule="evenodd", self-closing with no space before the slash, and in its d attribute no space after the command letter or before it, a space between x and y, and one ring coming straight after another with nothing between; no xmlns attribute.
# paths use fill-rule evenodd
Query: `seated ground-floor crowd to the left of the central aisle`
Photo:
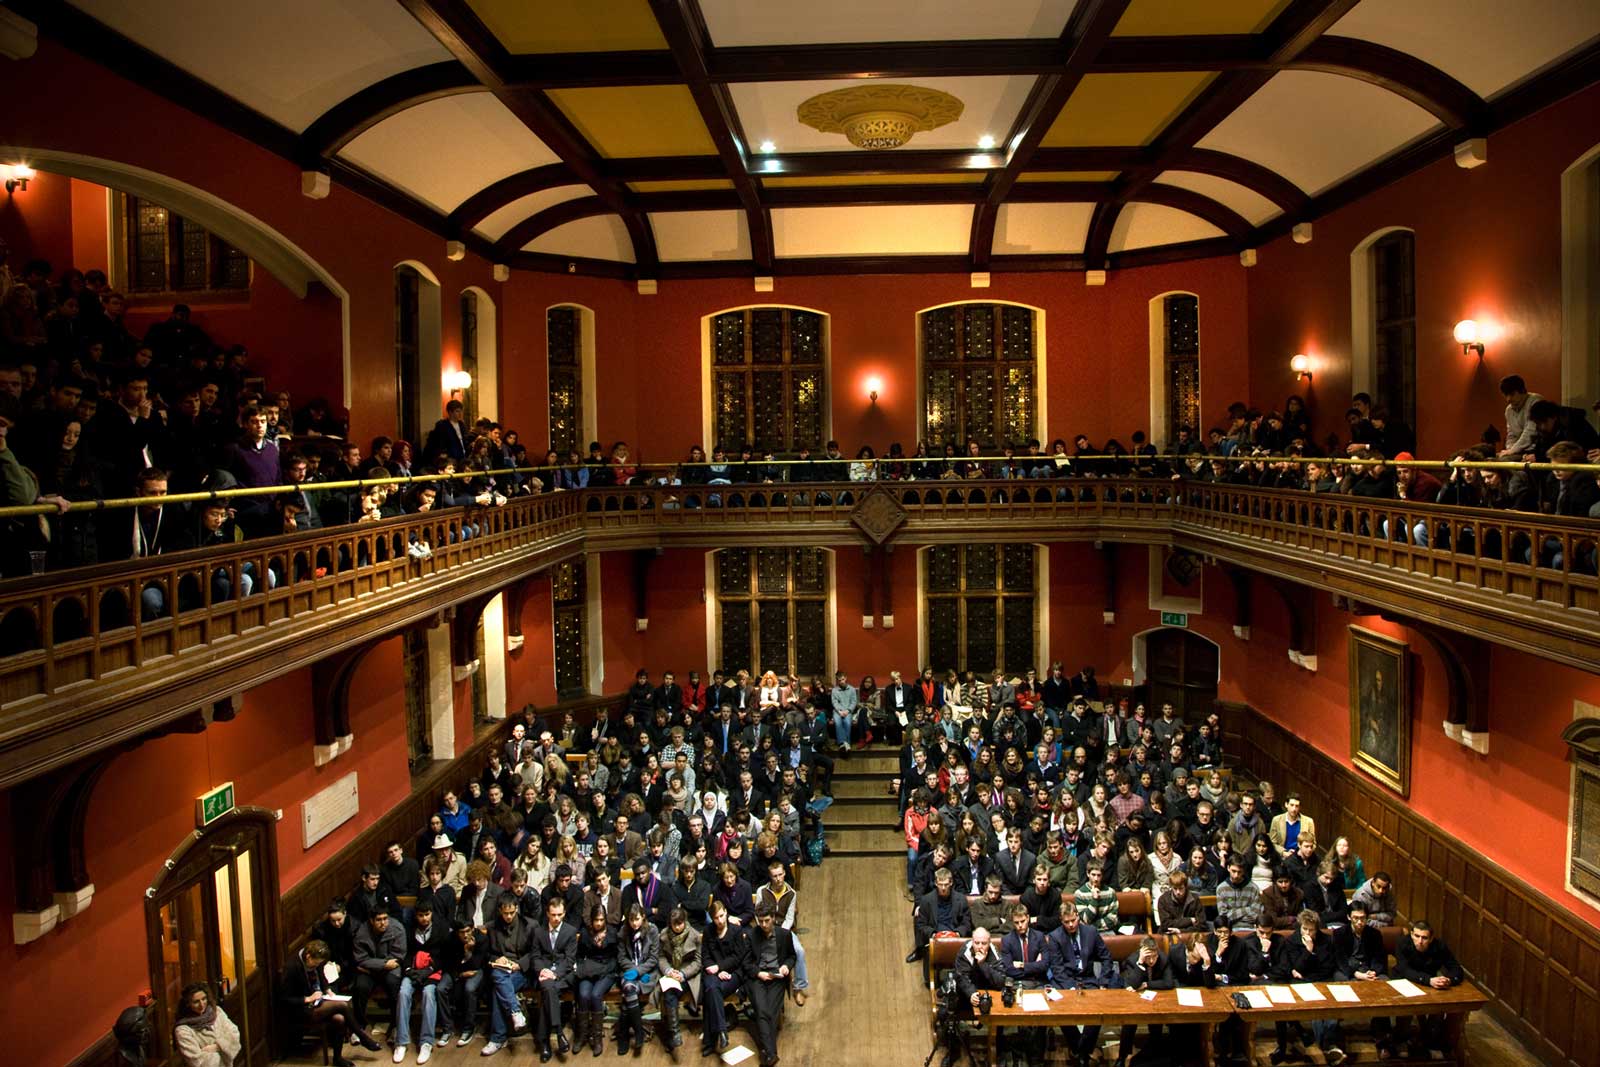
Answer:
<svg viewBox="0 0 1600 1067"><path fill-rule="evenodd" d="M525 709L504 752L328 905L286 969L285 1005L336 1064L346 1040L381 1048L378 992L395 1062L413 1045L418 1062L470 1045L485 1013L483 1056L530 1030L549 1062L600 1054L613 995L618 1053L640 1053L654 1006L677 1061L682 1013L699 1011L701 1048L717 1054L738 995L762 1065L776 1064L782 1003L806 1001L795 885L822 857L827 718L800 685L763 702L742 670L709 685L640 670L587 725Z"/></svg>

